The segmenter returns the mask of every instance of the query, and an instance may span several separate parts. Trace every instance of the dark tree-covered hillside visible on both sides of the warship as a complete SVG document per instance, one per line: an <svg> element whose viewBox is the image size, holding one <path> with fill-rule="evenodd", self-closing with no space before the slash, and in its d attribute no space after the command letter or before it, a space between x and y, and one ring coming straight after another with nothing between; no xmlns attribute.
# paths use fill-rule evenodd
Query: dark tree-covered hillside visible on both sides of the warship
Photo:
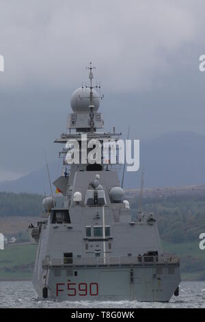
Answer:
<svg viewBox="0 0 205 322"><path fill-rule="evenodd" d="M0 193L0 216L38 216L42 212L42 195ZM61 198L59 198L61 199ZM131 200L131 213L136 216L138 198ZM144 197L143 212L153 212L163 240L183 243L198 240L205 232L205 197L172 195Z"/></svg>

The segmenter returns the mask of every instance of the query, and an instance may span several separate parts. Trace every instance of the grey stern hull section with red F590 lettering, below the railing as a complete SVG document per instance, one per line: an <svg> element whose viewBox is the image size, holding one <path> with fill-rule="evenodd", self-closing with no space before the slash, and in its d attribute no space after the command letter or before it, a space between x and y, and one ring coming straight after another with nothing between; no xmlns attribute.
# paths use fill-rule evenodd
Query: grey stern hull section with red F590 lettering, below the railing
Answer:
<svg viewBox="0 0 205 322"><path fill-rule="evenodd" d="M101 265L102 266L102 265ZM180 283L179 267L169 274L169 267L75 267L49 269L46 285L48 298L58 301L169 301ZM173 266L172 266L173 269ZM75 276L74 274L76 274ZM131 272L133 277L131 277ZM72 274L72 276L70 276ZM57 276L58 275L58 276ZM155 277L153 277L155 275ZM44 283L36 274L33 285L42 298ZM160 280L159 280L160 279Z"/></svg>

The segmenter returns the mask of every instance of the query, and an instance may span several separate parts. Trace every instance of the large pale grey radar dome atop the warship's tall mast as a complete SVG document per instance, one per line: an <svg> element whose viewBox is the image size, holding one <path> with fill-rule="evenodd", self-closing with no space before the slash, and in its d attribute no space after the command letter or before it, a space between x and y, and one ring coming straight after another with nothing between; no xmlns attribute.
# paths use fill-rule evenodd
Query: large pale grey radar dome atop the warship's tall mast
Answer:
<svg viewBox="0 0 205 322"><path fill-rule="evenodd" d="M97 112L100 106L100 99L96 90L92 90L92 92L94 112ZM80 87L77 90L75 90L71 95L70 105L73 112L90 112L90 88Z"/></svg>

